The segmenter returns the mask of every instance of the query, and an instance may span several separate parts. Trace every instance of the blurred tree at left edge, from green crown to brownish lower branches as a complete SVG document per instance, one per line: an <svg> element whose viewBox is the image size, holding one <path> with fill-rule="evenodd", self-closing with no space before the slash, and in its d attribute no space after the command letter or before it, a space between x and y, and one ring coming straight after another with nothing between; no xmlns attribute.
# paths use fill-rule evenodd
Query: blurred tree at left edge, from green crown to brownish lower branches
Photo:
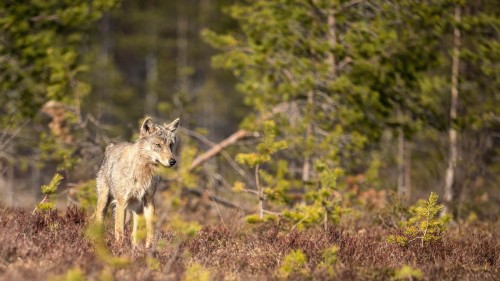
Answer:
<svg viewBox="0 0 500 281"><path fill-rule="evenodd" d="M55 161L58 170L74 167L78 145L73 129L85 127L81 101L90 91L90 85L80 80L88 70L87 32L116 4L115 0L0 3L0 127L8 136L2 140L11 141L3 143L2 154L10 157L2 157L2 164L7 161L25 172L38 171L39 160ZM50 132L40 126L40 109L52 119ZM85 141L85 133L79 134L78 141L80 137Z"/></svg>

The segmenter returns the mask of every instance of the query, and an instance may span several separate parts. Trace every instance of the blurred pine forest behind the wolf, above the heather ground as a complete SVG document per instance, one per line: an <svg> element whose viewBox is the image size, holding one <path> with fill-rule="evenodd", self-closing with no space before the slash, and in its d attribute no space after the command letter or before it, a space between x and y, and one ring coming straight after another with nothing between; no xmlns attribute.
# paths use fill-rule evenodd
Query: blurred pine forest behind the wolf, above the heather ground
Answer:
<svg viewBox="0 0 500 281"><path fill-rule="evenodd" d="M92 212L104 147L151 116L182 125L159 213L396 226L435 192L498 222L496 1L3 1L0 30L4 206L60 173Z"/></svg>

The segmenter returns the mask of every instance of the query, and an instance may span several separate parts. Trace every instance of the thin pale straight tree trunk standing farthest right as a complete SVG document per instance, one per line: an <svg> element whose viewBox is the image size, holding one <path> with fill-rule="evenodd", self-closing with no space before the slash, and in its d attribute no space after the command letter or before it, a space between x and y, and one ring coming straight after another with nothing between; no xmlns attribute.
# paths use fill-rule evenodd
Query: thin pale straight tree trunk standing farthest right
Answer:
<svg viewBox="0 0 500 281"><path fill-rule="evenodd" d="M455 24L458 24L461 19L460 6L455 6ZM450 141L450 155L448 158L448 168L446 169L445 185L444 185L444 200L449 204L453 201L453 185L455 181L457 160L458 160L458 144L457 130L455 123L457 119L458 105L458 71L460 67L460 29L455 25L453 29L453 58L451 65L451 106L450 106L450 129L448 131Z"/></svg>

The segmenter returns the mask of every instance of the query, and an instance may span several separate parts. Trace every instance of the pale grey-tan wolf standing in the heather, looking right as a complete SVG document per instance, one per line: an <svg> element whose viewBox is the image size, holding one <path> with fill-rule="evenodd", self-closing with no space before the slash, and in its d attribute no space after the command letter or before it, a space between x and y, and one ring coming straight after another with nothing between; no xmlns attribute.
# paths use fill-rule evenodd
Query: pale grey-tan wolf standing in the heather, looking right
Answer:
<svg viewBox="0 0 500 281"><path fill-rule="evenodd" d="M97 208L95 218L103 222L110 203L115 205L115 240L123 241L125 212L133 216L132 244L137 245L139 214L146 221L146 247L154 237L154 194L159 182L157 168L172 167L176 161L172 149L176 142L179 118L172 123L155 124L147 117L135 143L110 144L97 173Z"/></svg>

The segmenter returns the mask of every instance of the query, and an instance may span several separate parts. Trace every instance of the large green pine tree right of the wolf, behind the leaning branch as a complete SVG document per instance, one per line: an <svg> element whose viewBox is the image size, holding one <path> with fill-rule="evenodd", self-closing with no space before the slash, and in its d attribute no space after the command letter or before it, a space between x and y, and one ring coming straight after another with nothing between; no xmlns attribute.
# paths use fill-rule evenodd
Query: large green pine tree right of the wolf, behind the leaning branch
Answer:
<svg viewBox="0 0 500 281"><path fill-rule="evenodd" d="M240 32L203 34L223 50L213 58L214 66L233 70L238 89L257 115L288 105L289 110L274 117L277 139L288 144L277 156L288 162L290 179L303 180L302 188L320 181L311 167L318 159L353 172L355 159L361 158L355 155L370 132L361 133L368 126L363 112L352 106L360 94L346 72L352 61L345 41L352 22L346 18L356 18L355 6L343 1L236 4L228 13L238 21ZM252 122L255 118L249 116L243 126L261 130ZM280 170L276 163L261 169L272 175Z"/></svg>

